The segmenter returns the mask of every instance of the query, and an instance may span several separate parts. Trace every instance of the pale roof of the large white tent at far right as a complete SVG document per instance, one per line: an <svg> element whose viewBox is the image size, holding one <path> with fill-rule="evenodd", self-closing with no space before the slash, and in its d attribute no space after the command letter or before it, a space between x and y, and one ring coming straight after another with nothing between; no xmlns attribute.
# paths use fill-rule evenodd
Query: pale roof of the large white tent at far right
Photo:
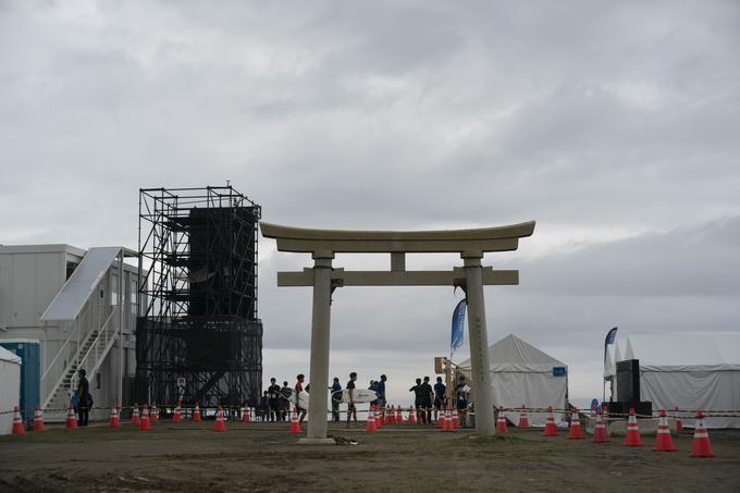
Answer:
<svg viewBox="0 0 740 493"><path fill-rule="evenodd" d="M740 332L630 334L624 347L640 366L740 363Z"/></svg>

